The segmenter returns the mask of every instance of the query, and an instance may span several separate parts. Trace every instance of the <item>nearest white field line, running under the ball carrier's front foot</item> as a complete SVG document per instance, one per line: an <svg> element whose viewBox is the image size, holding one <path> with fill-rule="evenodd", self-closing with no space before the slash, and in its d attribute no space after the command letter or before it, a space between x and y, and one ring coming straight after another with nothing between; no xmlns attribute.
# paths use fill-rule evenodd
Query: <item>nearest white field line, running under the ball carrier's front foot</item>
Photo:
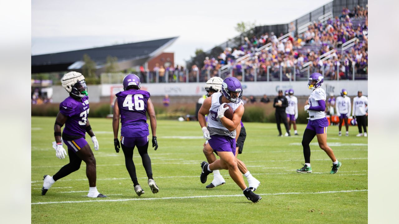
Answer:
<svg viewBox="0 0 399 224"><path fill-rule="evenodd" d="M308 195L308 194L332 194L332 193L351 193L362 192L364 190L347 190L347 191L321 191L321 192L288 192L288 193L267 193L259 195ZM85 203L85 202L119 202L130 200L168 200L168 199L186 199L186 198L214 198L214 197L243 197L243 195L198 195L198 196L183 196L183 197L164 197L164 198L126 198L126 199L104 199L104 200L77 200L77 201L49 201L49 202L34 202L31 204L64 204L64 203Z"/></svg>

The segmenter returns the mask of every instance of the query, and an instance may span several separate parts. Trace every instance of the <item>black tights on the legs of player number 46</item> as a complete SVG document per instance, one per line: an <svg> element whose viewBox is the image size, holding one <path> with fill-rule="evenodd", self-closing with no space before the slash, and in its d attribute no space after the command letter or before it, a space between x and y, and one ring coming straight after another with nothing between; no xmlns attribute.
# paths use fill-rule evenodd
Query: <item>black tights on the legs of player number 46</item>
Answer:
<svg viewBox="0 0 399 224"><path fill-rule="evenodd" d="M136 176L136 167L134 166L133 162L133 147L126 147L123 144L122 146L122 151L125 157L125 164L126 164L126 169L130 175L130 178L133 181L133 185L136 186L138 185L137 181L137 176ZM151 159L150 156L147 153L148 149L148 142L145 145L142 146L137 146L138 153L141 156L141 161L143 163L143 167L146 170L147 177L148 179L152 179L152 169L151 169Z"/></svg>

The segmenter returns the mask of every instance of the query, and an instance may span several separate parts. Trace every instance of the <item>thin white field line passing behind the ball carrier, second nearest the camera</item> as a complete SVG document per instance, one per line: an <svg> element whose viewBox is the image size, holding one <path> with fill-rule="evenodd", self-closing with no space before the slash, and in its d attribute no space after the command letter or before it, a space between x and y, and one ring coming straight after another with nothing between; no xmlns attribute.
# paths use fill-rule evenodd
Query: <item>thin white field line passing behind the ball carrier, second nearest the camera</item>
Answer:
<svg viewBox="0 0 399 224"><path fill-rule="evenodd" d="M340 158L340 161L343 160L357 160L357 159L368 159L365 158ZM312 161L324 161L324 160L331 160L331 159L312 159ZM295 161L303 161L303 159L286 159L286 160L258 160L258 161L245 161L245 163L263 163L263 162L295 162ZM152 163L152 165L168 165L168 164L201 164L201 160L189 160L189 162L183 163ZM105 166L124 166L125 164L100 164L97 165L98 167L105 167ZM142 163L134 163L134 165L142 165ZM31 166L31 168L53 168L53 167L62 167L62 165L58 166Z"/></svg>

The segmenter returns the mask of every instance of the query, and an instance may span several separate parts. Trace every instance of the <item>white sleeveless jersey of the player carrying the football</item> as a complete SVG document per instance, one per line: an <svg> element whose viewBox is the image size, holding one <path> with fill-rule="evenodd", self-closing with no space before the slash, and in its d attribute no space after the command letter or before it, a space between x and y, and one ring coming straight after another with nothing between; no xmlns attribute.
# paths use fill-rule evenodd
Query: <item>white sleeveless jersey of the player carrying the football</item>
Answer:
<svg viewBox="0 0 399 224"><path fill-rule="evenodd" d="M235 130L233 132L230 132L227 130L225 126L223 126L222 122L220 121L219 116L217 116L217 111L219 109L219 106L221 105L221 92L215 92L212 94L212 103L211 103L211 108L209 109L209 116L208 116L208 130L209 134L212 135L222 135L222 136L230 136L231 138L235 138ZM241 105L243 104L242 101L240 101L238 104L235 104L233 102L228 103L231 108L233 108L233 112Z"/></svg>

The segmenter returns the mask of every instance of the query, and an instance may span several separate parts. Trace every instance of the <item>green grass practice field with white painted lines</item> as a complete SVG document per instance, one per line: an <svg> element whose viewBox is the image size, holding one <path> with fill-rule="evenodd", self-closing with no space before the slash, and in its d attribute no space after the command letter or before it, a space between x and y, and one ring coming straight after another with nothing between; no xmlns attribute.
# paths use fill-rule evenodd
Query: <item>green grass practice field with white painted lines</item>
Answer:
<svg viewBox="0 0 399 224"><path fill-rule="evenodd" d="M367 138L356 137L354 126L350 137L338 137L337 126L328 128L328 144L342 162L331 175L332 162L316 138L310 146L313 173L295 172L304 163L305 125L298 125L299 136L278 137L276 124L245 123L247 139L239 158L261 181L256 193L262 200L255 204L225 170L225 185L205 189L213 176L206 184L199 180L205 156L198 122L170 120L158 120L159 148L148 149L158 194L147 185L136 149L133 159L145 194L134 193L123 153L113 146L111 119L90 118L100 145L99 151L93 150L97 189L108 198L86 197L84 162L41 196L43 175L54 175L68 163L68 158L55 157L51 147L54 121L32 117L32 223L367 223Z"/></svg>

